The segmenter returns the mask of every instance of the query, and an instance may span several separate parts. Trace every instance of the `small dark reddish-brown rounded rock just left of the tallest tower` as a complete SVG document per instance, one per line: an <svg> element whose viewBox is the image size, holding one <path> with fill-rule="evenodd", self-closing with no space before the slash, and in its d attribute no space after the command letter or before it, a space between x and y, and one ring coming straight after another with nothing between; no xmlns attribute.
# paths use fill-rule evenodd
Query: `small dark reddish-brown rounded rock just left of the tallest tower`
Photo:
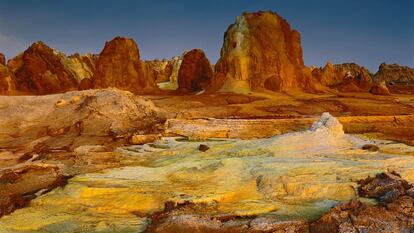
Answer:
<svg viewBox="0 0 414 233"><path fill-rule="evenodd" d="M193 49L184 55L178 72L178 88L182 92L202 91L210 84L213 74L204 52Z"/></svg>

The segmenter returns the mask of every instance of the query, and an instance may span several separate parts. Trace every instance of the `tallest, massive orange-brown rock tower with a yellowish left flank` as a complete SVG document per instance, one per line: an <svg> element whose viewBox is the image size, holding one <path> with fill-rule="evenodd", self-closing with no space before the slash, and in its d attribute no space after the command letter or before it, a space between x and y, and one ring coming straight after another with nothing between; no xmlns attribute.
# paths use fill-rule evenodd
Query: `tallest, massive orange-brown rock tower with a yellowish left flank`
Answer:
<svg viewBox="0 0 414 233"><path fill-rule="evenodd" d="M299 32L273 12L244 13L224 35L211 89L322 90L302 58Z"/></svg>

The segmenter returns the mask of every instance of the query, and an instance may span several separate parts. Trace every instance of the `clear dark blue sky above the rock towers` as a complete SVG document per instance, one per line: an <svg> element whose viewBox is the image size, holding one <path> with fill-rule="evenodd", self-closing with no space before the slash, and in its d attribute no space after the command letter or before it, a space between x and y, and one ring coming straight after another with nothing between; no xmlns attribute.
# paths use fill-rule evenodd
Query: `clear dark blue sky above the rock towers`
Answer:
<svg viewBox="0 0 414 233"><path fill-rule="evenodd" d="M135 39L142 59L201 48L215 63L228 25L257 10L301 33L306 65L414 67L412 0L0 0L0 52L11 58L42 40L67 54L99 53L120 35Z"/></svg>

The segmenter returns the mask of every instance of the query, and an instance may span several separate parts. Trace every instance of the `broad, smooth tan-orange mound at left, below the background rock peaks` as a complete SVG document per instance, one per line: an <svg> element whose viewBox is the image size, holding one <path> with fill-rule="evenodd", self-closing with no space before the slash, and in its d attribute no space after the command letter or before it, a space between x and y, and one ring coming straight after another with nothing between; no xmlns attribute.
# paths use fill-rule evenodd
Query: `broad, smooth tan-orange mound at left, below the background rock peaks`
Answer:
<svg viewBox="0 0 414 233"><path fill-rule="evenodd" d="M70 151L85 143L127 141L135 132L157 130L156 125L165 120L151 101L116 89L36 98L1 96L0 106L0 148L21 148L41 139L51 148ZM26 150L14 153L27 154Z"/></svg>

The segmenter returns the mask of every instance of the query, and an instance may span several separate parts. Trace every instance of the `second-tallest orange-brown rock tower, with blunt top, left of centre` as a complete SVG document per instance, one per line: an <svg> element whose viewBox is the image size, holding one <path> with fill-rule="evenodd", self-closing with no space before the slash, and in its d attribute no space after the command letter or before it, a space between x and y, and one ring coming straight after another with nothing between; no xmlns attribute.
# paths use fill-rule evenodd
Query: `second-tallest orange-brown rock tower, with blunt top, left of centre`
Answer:
<svg viewBox="0 0 414 233"><path fill-rule="evenodd" d="M136 94L157 90L153 79L147 78L135 41L116 37L106 42L96 60L95 88L116 87Z"/></svg>

